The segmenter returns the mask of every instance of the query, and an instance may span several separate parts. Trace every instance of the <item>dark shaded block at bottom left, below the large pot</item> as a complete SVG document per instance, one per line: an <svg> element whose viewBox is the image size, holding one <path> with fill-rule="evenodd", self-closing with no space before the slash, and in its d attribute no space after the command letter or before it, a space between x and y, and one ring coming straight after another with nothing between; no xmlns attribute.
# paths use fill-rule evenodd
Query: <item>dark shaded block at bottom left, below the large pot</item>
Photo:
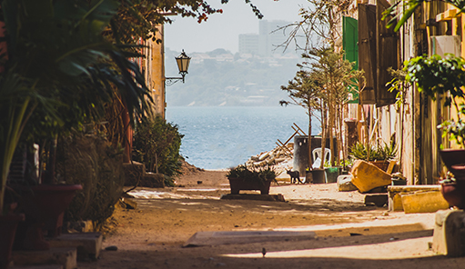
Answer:
<svg viewBox="0 0 465 269"><path fill-rule="evenodd" d="M50 248L45 251L14 251L13 263L18 266L60 264L63 269L77 268L77 251L74 247Z"/></svg>

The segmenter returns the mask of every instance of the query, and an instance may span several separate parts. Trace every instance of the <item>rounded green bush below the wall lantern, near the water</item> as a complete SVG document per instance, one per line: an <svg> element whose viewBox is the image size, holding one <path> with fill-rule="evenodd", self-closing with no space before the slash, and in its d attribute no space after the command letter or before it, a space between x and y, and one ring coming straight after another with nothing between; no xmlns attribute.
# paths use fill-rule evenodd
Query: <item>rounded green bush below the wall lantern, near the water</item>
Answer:
<svg viewBox="0 0 465 269"><path fill-rule="evenodd" d="M177 125L167 123L162 117L141 123L134 134L134 160L146 164L150 172L168 176L180 174L182 137Z"/></svg>

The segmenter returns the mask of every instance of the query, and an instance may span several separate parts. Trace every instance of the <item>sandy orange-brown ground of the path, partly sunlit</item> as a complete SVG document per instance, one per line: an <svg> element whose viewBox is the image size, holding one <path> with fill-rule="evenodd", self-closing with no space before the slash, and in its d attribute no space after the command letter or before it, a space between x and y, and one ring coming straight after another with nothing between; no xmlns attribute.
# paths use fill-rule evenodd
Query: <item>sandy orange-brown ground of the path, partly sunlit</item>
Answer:
<svg viewBox="0 0 465 269"><path fill-rule="evenodd" d="M136 209L118 208L104 240L117 251L79 268L465 268L465 258L429 250L434 214L366 206L363 194L338 192L336 184L272 185L270 194L286 202L220 200L229 193L225 174L190 171L178 187L132 191ZM317 238L182 247L199 231L244 230L315 231Z"/></svg>

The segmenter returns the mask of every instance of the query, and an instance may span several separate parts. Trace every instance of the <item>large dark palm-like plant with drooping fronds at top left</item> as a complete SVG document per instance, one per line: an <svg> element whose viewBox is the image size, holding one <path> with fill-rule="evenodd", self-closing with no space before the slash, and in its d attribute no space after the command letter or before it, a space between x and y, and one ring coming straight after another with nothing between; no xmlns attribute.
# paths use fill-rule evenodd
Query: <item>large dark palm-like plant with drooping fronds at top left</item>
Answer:
<svg viewBox="0 0 465 269"><path fill-rule="evenodd" d="M26 127L56 137L57 129L97 115L114 88L131 119L142 120L149 113L144 77L127 58L135 54L102 35L117 7L114 0L2 2L6 45L0 74L0 208L15 147Z"/></svg>

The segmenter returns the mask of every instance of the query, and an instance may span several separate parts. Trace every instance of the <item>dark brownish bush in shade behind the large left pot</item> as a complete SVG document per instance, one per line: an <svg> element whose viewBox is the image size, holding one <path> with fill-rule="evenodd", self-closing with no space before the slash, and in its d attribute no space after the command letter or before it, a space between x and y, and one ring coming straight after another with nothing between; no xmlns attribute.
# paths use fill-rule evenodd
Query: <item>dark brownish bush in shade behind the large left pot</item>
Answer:
<svg viewBox="0 0 465 269"><path fill-rule="evenodd" d="M57 148L56 177L66 184L83 185L69 205L65 220L91 220L99 230L123 193L122 150L96 135L62 138Z"/></svg>

